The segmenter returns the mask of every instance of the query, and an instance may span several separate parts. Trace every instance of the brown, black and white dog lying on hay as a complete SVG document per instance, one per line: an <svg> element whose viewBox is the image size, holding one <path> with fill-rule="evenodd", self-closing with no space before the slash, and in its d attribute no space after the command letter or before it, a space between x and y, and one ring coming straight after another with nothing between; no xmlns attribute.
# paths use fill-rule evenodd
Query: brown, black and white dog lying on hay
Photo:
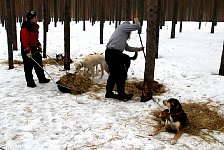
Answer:
<svg viewBox="0 0 224 150"><path fill-rule="evenodd" d="M163 104L168 107L168 109L161 111L159 115L163 126L158 128L153 135L157 135L163 131L174 131L175 136L170 142L171 144L176 144L177 140L183 134L182 129L187 123L187 115L177 99L170 98L164 100Z"/></svg>

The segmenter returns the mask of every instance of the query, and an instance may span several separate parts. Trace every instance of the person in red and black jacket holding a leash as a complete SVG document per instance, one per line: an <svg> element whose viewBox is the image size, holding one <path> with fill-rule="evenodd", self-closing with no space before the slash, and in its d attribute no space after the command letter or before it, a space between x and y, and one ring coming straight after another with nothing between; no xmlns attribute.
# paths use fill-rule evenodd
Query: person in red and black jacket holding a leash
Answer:
<svg viewBox="0 0 224 150"><path fill-rule="evenodd" d="M43 70L43 62L41 55L41 44L38 40L39 25L37 24L36 12L31 10L26 15L26 21L22 23L20 31L21 54L24 64L25 78L28 87L36 87L33 80L32 70L34 68L39 83L48 83Z"/></svg>

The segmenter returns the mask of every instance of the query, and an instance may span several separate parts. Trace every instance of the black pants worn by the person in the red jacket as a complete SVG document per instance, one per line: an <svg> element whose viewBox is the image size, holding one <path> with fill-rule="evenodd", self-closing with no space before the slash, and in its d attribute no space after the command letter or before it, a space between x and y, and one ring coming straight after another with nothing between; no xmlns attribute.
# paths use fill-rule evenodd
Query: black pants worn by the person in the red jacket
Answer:
<svg viewBox="0 0 224 150"><path fill-rule="evenodd" d="M31 58L26 56L23 49L21 50L21 53L23 58L26 82L28 84L34 83L32 74L33 68L39 80L45 79L44 70L42 69L43 68L42 55L35 48L32 48L32 54L33 54L32 58L42 67L41 68L36 62L34 62Z"/></svg>

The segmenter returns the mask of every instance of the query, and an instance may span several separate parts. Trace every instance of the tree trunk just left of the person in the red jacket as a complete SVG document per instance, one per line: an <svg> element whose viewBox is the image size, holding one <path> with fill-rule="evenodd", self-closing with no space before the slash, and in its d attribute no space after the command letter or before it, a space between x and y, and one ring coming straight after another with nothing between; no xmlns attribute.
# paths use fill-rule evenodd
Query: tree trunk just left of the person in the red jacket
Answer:
<svg viewBox="0 0 224 150"><path fill-rule="evenodd" d="M11 14L11 4L10 1L6 0L6 31L7 31L7 41L8 41L8 63L9 69L13 69L13 35L12 35L12 14Z"/></svg>

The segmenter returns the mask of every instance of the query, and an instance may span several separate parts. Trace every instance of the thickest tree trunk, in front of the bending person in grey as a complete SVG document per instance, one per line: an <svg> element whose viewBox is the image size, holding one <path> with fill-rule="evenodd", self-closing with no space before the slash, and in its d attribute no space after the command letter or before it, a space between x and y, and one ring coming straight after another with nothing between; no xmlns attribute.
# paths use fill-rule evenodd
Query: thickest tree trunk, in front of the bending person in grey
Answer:
<svg viewBox="0 0 224 150"><path fill-rule="evenodd" d="M157 29L158 29L158 0L148 0L147 9L147 43L146 43L146 60L144 84L141 96L141 102L152 99L153 81L155 70L155 51L157 49Z"/></svg>

